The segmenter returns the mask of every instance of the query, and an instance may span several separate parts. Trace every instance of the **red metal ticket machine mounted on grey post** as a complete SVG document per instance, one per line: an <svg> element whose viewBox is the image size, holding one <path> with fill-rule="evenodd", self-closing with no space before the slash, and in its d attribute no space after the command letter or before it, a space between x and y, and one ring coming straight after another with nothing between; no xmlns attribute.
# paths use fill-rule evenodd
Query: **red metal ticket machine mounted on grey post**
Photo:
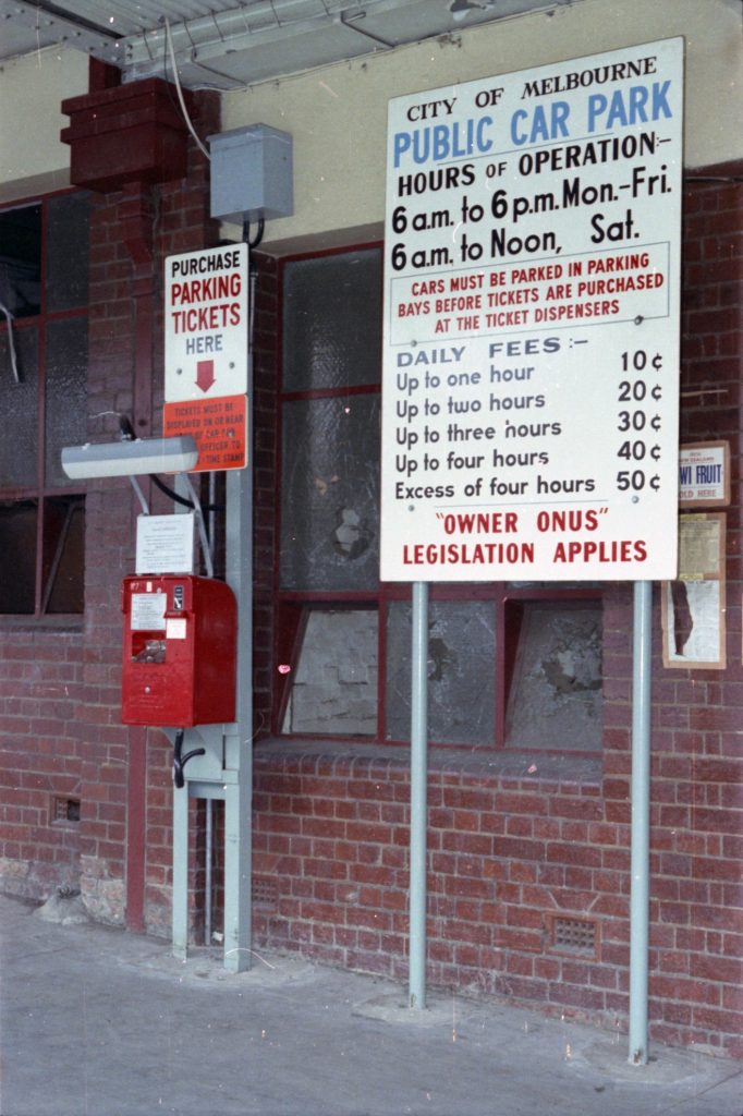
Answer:
<svg viewBox="0 0 743 1116"><path fill-rule="evenodd" d="M234 720L238 614L209 577L126 577L122 721L190 729Z"/></svg>

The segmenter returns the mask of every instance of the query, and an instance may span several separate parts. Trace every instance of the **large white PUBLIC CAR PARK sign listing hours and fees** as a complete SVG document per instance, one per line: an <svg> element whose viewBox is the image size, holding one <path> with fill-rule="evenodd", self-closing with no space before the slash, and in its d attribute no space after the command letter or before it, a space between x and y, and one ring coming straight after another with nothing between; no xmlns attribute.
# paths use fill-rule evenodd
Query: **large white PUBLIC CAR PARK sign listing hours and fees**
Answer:
<svg viewBox="0 0 743 1116"><path fill-rule="evenodd" d="M385 580L675 577L683 40L389 104Z"/></svg>

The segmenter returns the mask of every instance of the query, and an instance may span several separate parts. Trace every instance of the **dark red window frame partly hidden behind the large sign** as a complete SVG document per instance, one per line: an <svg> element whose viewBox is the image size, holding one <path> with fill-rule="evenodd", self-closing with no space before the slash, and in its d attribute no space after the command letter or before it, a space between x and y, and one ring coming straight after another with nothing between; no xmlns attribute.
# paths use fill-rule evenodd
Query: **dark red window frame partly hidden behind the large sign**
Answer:
<svg viewBox="0 0 743 1116"><path fill-rule="evenodd" d="M276 379L276 430L277 430L277 494L276 514L277 532L274 548L273 569L273 600L274 600L274 636L273 636L273 668L274 679L271 706L271 732L274 737L289 740L346 740L358 743L374 745L407 747L408 740L388 739L386 734L386 699L387 699L387 646L386 631L388 609L393 602L412 600L412 584L378 581L376 590L339 590L339 589L293 589L283 588L281 585L281 517L282 517L282 437L283 437L283 407L286 403L297 401L311 401L316 398L331 398L351 395L382 395L382 366L379 366L379 379L368 385L356 385L353 387L312 388L308 391L283 391L283 354L284 354L284 283L287 268L295 262L306 260L319 260L329 256L350 254L376 249L380 257L380 281L382 264L384 260L384 246L379 241L361 244L347 244L340 248L332 248L317 252L303 252L283 257L279 261L278 270L278 344L277 344L277 366ZM379 334L382 334L382 321L379 323ZM467 751L498 751L505 754L518 754L520 747L506 742L506 716L511 683L515 664L515 650L518 645L518 632L513 632L513 625L509 629L509 613L513 606L521 606L531 602L560 603L575 602L577 607L586 603L604 603L604 587L600 585L576 586L566 585L561 588L560 583L538 583L534 585L511 584L505 581L473 581L473 583L431 583L430 600L432 603L444 600L489 600L494 609L495 631L495 654L493 662L494 672L494 739L492 742L472 745L471 743L442 742L436 747ZM307 616L310 609L347 609L347 608L372 608L376 609L378 616L378 689L377 689L377 732L372 735L353 735L344 732L338 733L312 733L312 732L286 732L283 730L284 715L289 696L291 693L292 677L297 670L299 655L301 652L302 637L307 626ZM540 749L540 753L587 757L596 754L587 749L570 749L560 745Z"/></svg>

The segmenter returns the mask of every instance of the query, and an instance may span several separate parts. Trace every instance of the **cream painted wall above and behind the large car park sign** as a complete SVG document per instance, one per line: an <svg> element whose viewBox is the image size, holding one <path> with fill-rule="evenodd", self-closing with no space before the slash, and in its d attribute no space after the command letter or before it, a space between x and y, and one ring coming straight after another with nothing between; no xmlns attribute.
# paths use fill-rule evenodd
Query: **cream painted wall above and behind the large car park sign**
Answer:
<svg viewBox="0 0 743 1116"><path fill-rule="evenodd" d="M387 102L448 83L684 36L686 165L741 158L741 27L740 0L576 0L228 94L222 127L293 137L295 215L267 223L267 247L348 243L380 233Z"/></svg>

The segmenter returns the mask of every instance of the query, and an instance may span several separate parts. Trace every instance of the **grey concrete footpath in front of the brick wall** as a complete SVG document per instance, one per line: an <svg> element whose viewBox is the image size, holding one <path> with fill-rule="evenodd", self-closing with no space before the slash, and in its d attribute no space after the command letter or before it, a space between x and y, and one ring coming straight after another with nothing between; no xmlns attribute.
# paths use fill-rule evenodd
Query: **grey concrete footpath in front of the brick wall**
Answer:
<svg viewBox="0 0 743 1116"><path fill-rule="evenodd" d="M224 971L0 897L1 1116L742 1116L743 1065L296 956Z"/></svg>

